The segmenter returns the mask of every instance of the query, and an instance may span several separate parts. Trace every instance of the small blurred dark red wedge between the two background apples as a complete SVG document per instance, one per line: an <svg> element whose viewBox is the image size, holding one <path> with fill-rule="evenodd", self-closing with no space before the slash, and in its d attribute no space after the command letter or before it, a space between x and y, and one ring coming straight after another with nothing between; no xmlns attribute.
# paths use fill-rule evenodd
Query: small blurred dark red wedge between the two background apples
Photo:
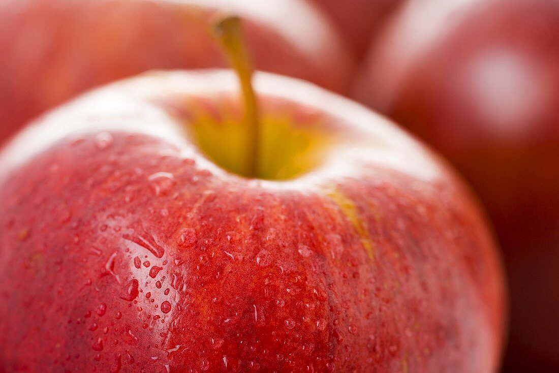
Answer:
<svg viewBox="0 0 559 373"><path fill-rule="evenodd" d="M309 0L307 0L309 1ZM405 0L310 0L337 23L357 56L382 28L386 18Z"/></svg>

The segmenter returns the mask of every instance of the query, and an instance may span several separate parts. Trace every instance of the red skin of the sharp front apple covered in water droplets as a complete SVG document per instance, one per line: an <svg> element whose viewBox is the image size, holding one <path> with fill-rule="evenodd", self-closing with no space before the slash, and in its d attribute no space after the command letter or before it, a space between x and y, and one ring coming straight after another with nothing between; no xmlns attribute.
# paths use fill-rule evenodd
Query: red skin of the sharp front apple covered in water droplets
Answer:
<svg viewBox="0 0 559 373"><path fill-rule="evenodd" d="M333 135L320 166L250 180L200 153L201 108L242 119L226 70L111 84L3 148L4 370L496 371L503 273L465 185L357 103L254 86L262 117Z"/></svg>

